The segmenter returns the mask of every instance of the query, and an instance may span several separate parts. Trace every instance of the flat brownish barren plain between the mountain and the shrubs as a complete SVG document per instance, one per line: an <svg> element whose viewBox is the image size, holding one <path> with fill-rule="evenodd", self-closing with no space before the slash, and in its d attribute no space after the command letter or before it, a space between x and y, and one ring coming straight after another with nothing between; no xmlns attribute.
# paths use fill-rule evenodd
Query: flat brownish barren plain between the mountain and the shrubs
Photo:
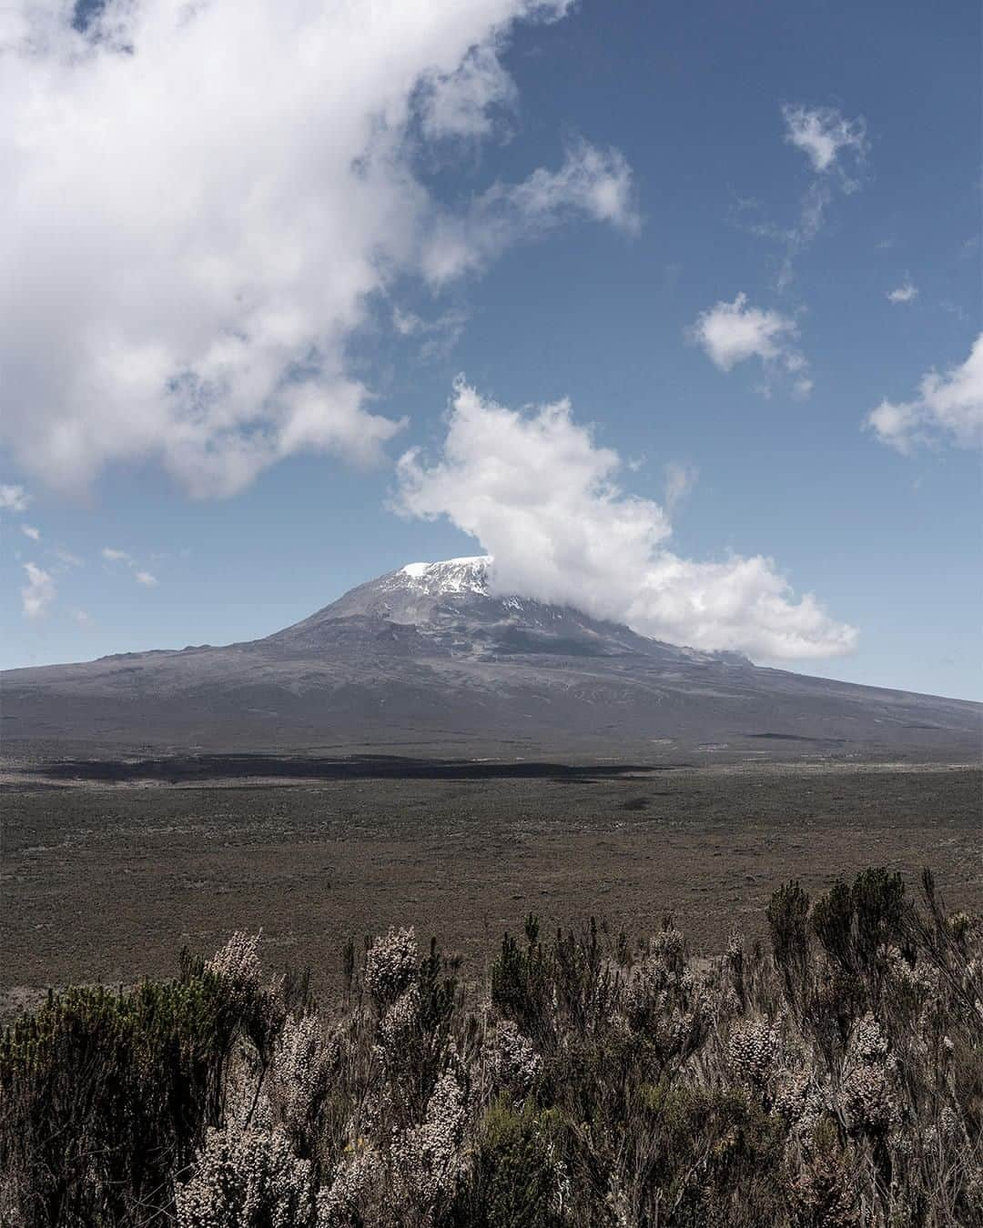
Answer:
<svg viewBox="0 0 983 1228"><path fill-rule="evenodd" d="M772 892L870 865L930 866L983 906L981 774L969 765L500 764L213 758L50 765L4 790L4 1008L49 985L170 975L263 930L268 968L331 993L348 936L417 926L477 974L528 911L656 928L697 952L764 932Z"/></svg>

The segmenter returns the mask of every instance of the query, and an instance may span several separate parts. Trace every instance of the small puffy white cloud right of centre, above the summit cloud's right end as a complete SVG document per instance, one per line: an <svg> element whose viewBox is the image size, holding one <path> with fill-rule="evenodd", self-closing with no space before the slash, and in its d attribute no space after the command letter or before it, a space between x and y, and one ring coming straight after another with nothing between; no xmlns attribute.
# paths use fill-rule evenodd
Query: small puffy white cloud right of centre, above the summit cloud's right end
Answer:
<svg viewBox="0 0 983 1228"><path fill-rule="evenodd" d="M738 293L732 303L721 301L700 312L687 335L721 371L759 359L769 378L783 371L793 376L799 395L807 395L812 388L806 376L809 363L793 344L799 336L795 321L752 307L746 293ZM766 384L766 389L769 387Z"/></svg>

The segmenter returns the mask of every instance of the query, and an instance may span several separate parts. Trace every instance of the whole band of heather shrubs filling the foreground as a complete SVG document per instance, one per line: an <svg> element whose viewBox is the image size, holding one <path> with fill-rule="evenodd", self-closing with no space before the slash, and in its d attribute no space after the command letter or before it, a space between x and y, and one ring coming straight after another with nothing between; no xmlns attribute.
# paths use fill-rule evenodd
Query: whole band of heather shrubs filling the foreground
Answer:
<svg viewBox="0 0 983 1228"><path fill-rule="evenodd" d="M666 917L506 935L488 984L391 930L264 984L259 936L52 995L0 1039L0 1222L983 1228L983 933L870 869L770 949Z"/></svg>

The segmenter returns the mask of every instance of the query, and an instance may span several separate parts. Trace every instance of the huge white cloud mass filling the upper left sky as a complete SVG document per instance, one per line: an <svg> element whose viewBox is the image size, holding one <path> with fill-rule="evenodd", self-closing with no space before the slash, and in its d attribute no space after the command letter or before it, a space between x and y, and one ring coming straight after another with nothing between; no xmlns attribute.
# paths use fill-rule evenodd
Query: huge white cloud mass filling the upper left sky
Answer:
<svg viewBox="0 0 983 1228"><path fill-rule="evenodd" d="M460 214L418 167L512 88L516 21L568 0L14 0L0 25L0 438L55 485L152 459L229 495L301 451L370 464L401 420L348 348L397 278L440 285L569 217L636 225L614 151ZM66 204L68 203L68 204Z"/></svg>

